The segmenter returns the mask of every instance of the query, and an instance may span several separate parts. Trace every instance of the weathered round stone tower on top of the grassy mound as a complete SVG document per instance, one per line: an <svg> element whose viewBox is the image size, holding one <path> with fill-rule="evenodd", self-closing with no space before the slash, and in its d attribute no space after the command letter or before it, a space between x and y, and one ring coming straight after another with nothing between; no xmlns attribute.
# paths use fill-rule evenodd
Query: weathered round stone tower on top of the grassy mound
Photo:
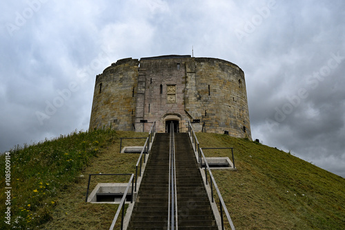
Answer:
<svg viewBox="0 0 345 230"><path fill-rule="evenodd" d="M97 75L90 129L111 127L145 132L156 121L166 132L173 121L186 132L195 131L248 137L250 122L244 72L221 59L189 55L121 59ZM140 123L148 121L148 123Z"/></svg>

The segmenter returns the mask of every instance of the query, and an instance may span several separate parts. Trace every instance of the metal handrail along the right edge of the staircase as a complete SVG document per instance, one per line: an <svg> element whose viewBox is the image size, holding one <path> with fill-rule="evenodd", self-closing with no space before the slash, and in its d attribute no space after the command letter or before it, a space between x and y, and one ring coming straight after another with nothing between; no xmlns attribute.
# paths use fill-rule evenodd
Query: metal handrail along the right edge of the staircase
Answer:
<svg viewBox="0 0 345 230"><path fill-rule="evenodd" d="M218 197L219 197L219 205L220 205L220 216L221 216L221 229L224 229L224 220L223 220L223 209L224 209L224 212L226 214L226 218L228 218L228 222L230 224L230 227L232 230L235 230L235 226L233 224L233 220L231 220L230 218L230 214L228 212L228 209L226 208L226 205L225 205L225 202L223 200L223 197L221 196L221 193L218 189L218 186L217 186L217 183L215 182L215 178L213 177L213 174L211 172L211 169L208 165L208 162L206 160L206 157L204 155L204 152L202 151L202 149L199 147L199 141L197 140L197 136L195 135L195 132L193 130L193 127L190 123L190 121L188 121L188 135L191 139L191 142L193 144L193 149L195 151L195 156L199 156L197 157L197 160L200 160L201 162L201 158L204 158L204 163L205 163L205 170L208 171L208 173L210 174L210 180L211 180L211 183L210 183L210 187L211 187L211 192L212 192L212 202L215 202L214 198L213 198L213 186L215 187L216 191L217 191L217 194L218 194ZM207 174L206 174L206 185L207 185Z"/></svg>

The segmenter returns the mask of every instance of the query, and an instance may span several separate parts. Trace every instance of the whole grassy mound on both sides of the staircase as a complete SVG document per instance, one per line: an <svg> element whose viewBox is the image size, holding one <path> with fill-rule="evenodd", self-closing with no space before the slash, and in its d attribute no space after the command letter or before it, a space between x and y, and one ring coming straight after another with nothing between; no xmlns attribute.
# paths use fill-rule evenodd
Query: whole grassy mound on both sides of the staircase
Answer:
<svg viewBox="0 0 345 230"><path fill-rule="evenodd" d="M134 173L137 154L119 154L119 138L146 133L74 133L11 151L11 224L0 229L108 229L117 205L85 202L88 174ZM234 147L237 171L213 174L236 229L345 229L345 179L250 140L197 134L201 147ZM144 139L124 145L144 145ZM230 156L206 150L206 156ZM1 168L5 156L0 156ZM97 176L98 182L129 177ZM6 211L5 178L0 211ZM5 219L3 219L5 220Z"/></svg>

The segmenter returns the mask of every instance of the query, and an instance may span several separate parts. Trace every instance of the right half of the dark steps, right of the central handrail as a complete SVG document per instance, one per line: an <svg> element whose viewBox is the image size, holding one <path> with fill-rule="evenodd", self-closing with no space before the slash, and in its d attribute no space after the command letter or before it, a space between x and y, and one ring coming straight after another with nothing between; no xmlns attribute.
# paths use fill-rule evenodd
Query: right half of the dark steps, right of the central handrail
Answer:
<svg viewBox="0 0 345 230"><path fill-rule="evenodd" d="M188 134L175 143L179 229L218 229Z"/></svg>

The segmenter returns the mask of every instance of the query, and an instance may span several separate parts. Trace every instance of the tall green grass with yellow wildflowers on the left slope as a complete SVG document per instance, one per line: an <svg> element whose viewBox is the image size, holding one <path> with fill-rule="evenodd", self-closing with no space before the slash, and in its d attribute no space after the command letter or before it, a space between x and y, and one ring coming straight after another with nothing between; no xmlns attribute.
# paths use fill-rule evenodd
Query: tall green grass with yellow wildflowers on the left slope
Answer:
<svg viewBox="0 0 345 230"><path fill-rule="evenodd" d="M0 229L34 229L52 219L57 194L76 182L99 148L112 143L115 131L74 132L35 145L10 150L11 224L0 222ZM4 168L5 156L0 156ZM0 180L1 213L6 211L5 178Z"/></svg>

